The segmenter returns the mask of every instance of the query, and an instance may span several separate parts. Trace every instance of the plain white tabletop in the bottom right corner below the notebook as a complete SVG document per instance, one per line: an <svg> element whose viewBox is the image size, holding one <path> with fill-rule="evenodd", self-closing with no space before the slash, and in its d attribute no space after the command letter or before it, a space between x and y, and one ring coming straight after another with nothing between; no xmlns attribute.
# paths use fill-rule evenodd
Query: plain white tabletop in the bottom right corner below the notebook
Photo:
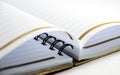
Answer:
<svg viewBox="0 0 120 75"><path fill-rule="evenodd" d="M120 75L120 52L57 73L56 75Z"/></svg>

